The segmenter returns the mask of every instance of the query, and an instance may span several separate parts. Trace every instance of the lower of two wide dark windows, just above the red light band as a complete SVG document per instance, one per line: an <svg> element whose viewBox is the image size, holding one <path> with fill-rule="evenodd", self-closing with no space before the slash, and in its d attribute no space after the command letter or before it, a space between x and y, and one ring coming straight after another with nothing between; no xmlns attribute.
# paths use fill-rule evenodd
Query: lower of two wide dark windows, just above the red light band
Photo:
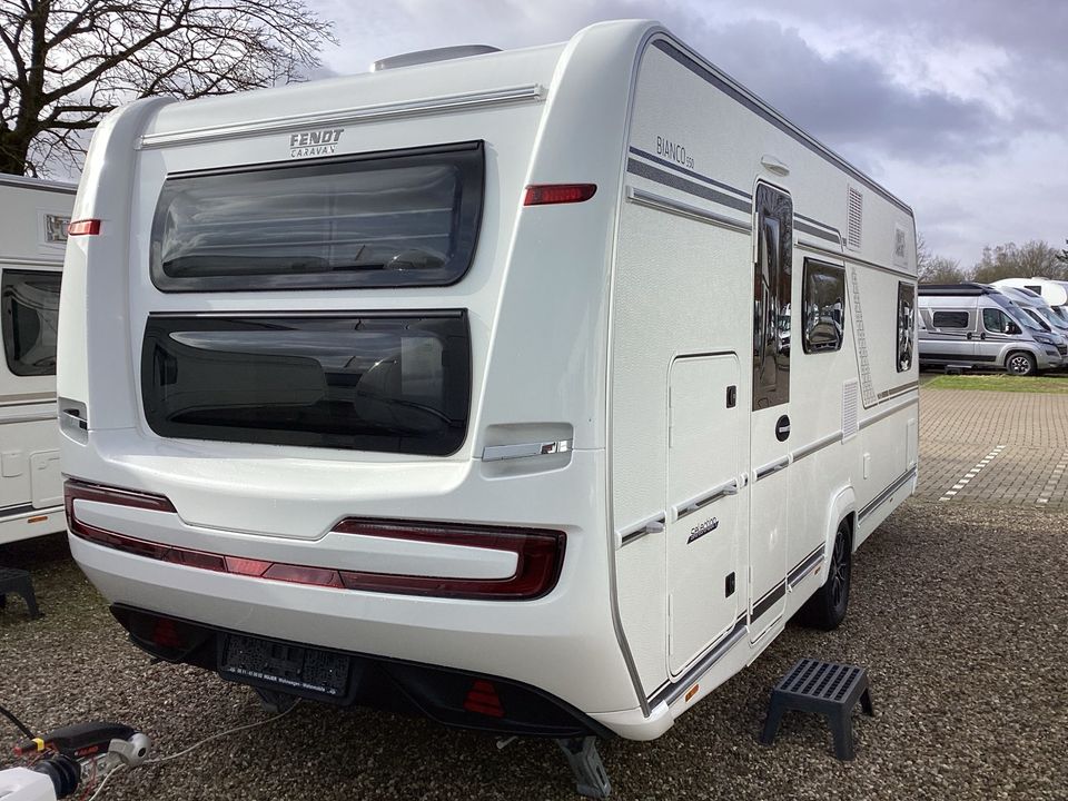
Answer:
<svg viewBox="0 0 1068 801"><path fill-rule="evenodd" d="M154 315L141 389L160 436L444 456L467 432L467 316Z"/></svg>

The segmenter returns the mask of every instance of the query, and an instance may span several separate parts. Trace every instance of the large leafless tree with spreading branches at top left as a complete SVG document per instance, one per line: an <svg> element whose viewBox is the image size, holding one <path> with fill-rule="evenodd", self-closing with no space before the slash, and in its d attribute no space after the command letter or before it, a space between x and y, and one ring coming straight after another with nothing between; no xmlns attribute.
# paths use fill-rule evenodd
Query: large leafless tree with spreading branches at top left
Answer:
<svg viewBox="0 0 1068 801"><path fill-rule="evenodd" d="M77 162L137 98L299 79L333 41L304 0L0 0L0 172Z"/></svg>

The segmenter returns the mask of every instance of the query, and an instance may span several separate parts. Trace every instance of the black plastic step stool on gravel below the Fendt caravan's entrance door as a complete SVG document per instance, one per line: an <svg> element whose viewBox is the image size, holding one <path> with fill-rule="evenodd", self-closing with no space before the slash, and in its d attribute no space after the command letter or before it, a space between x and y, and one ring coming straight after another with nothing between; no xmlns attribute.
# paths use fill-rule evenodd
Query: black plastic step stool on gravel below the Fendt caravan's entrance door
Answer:
<svg viewBox="0 0 1068 801"><path fill-rule="evenodd" d="M764 745L775 741L787 710L817 712L827 718L834 734L834 755L851 760L856 755L852 714L858 700L864 714L876 714L867 670L859 665L803 659L771 691L771 705L760 741Z"/></svg>

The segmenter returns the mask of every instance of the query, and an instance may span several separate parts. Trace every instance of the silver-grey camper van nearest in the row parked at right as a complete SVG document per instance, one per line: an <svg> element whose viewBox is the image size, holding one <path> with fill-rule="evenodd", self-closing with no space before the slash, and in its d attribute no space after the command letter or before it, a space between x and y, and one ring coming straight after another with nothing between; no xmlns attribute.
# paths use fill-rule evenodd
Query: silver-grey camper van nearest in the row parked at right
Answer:
<svg viewBox="0 0 1068 801"><path fill-rule="evenodd" d="M1009 295L987 284L921 284L920 364L1035 375L1060 367L1068 347ZM1021 298L1021 303L1024 298Z"/></svg>

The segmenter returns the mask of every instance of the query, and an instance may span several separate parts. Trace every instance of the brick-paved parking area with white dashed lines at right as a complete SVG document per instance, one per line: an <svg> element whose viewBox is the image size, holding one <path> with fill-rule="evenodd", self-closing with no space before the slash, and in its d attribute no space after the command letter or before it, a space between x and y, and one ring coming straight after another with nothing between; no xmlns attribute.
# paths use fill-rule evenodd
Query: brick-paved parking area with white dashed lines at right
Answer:
<svg viewBox="0 0 1068 801"><path fill-rule="evenodd" d="M1068 507L1068 395L921 386L917 496Z"/></svg>

